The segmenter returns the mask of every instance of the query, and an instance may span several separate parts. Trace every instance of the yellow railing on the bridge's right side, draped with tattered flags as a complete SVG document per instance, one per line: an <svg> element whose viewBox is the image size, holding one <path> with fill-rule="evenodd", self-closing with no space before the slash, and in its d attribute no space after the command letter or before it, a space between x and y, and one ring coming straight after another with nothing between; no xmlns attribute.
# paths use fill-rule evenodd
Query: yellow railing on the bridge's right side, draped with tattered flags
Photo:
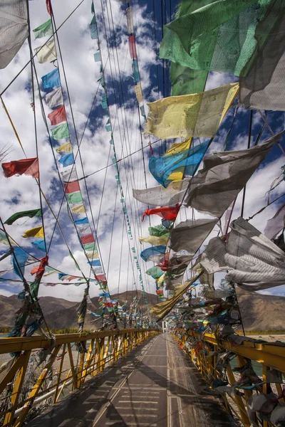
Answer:
<svg viewBox="0 0 285 427"><path fill-rule="evenodd" d="M172 336L191 357L192 362L195 363L200 374L202 374L202 377L210 387L215 379L221 378L222 369L224 378L227 379L231 388L231 392L221 393L222 400L229 413L238 418L243 426L275 426L270 421L270 413L268 416L264 416L264 413L257 410L254 411L252 401L255 394L264 394L266 396L270 391L274 391L277 396L275 404L278 406L284 404L281 381L272 383L272 377L270 376L269 378L269 371L276 369L285 376L285 347L265 342L244 341L242 344L235 344L226 340L217 340L214 334L204 334L201 337L193 332L188 334L178 332L178 334L173 334ZM222 354L223 350L231 352L231 355L235 357L231 363L226 358L221 368L217 361L217 356L219 353ZM253 369L259 370L257 376L259 376L261 382L258 379L253 379L252 381L249 379L249 382L244 381L242 385L248 386L257 382L260 385L252 390L237 389L235 386L239 385L240 374L233 371L233 365L235 367L244 367L249 360L252 362ZM214 390L214 387L212 389Z"/></svg>

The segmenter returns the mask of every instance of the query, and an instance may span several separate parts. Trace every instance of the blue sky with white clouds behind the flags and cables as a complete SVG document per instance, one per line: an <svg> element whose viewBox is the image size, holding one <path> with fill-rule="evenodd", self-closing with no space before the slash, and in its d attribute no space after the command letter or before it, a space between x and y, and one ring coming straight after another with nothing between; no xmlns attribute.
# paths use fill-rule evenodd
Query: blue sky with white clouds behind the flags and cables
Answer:
<svg viewBox="0 0 285 427"><path fill-rule="evenodd" d="M45 3L44 0L29 1L31 28L36 28L48 20L49 16ZM61 73L66 114L75 154L77 152L77 140L81 142L81 158L78 156L76 159L76 170L79 177L92 174L86 179L86 185L84 181L81 181L81 191L83 192L83 199L86 204L91 228L93 231L96 231L98 237L98 246L102 255L104 270L108 277L110 293L115 297L118 292L123 292L124 290L140 289L139 272L135 268L133 253L130 251L130 247L133 246L135 246L139 258L145 290L154 293L155 281L150 276L145 275L145 270L150 268L153 263L144 263L139 257L140 251L149 245L147 243L140 245L138 237L148 236L147 227L158 225L160 218L152 216L150 221L141 221L142 213L147 209L147 206L133 199L132 189L155 186L157 182L147 167L150 150L148 148L141 149L142 145L147 147L148 139L142 136L143 119L138 115L138 104L135 98L131 68L132 60L128 51L128 32L125 16L126 5L117 0L95 1L95 14L98 20L98 33L103 66L105 68L115 151L117 159L123 159L132 154L119 162L118 165L128 207L133 241L130 240L130 236L128 236L125 230L122 204L120 203L120 194L115 180L116 172L111 160L113 153L110 150L109 144L110 132L106 132L105 130L106 119L103 117L100 107L103 94L103 90L98 83L100 65L93 60L93 54L96 51L96 41L90 38L88 29L92 19L90 0L61 0L60 2L54 1L53 3L53 14L57 27L79 5L78 9L71 14L66 23L58 30L59 44L57 43L57 50L59 52L60 48L61 51L61 55L58 54L58 67ZM162 62L158 58L158 50L162 37L161 19L163 18L164 21L168 22L171 16L173 17L177 2L166 1L165 4L166 10L161 11L161 5L156 1L132 2L140 82L146 111L147 102L170 95L169 64L167 61ZM155 13L153 13L154 5ZM41 43L43 43L43 39L34 40L32 36L32 48L41 46ZM30 53L28 43L26 42L14 60L4 70L0 70L1 92L9 85L24 65L28 63L29 58ZM42 75L52 69L53 65L51 63L38 64L36 61L36 75L39 81L41 81ZM206 89L217 88L220 85L234 81L237 81L237 78L232 75L209 73ZM57 216L63 199L63 191L58 179L56 162L53 158L54 149L58 147L58 144L53 141L53 147L50 145L46 125L41 114L41 104L39 102L35 78L34 84L36 86L37 144L33 110L31 108L31 67L29 65L24 68L9 88L5 90L3 99L27 157L36 157L36 149L38 147L41 189L46 199L48 199L48 203L51 205L54 214ZM68 94L71 103L69 102ZM43 95L42 90L41 95ZM45 115L48 112L50 110L45 105ZM207 154L222 150L224 138L232 123L233 112L233 108L229 110ZM283 112L268 112L267 118L274 133L284 129ZM259 112L254 111L251 144L257 139L262 126L262 117L259 115ZM230 135L228 149L246 148L248 143L248 129L249 110L240 107ZM5 146L9 147L9 154L5 162L24 158L19 142L14 135L14 130L3 108L0 110L0 135L0 149ZM270 136L269 130L265 130L261 141L266 140ZM155 137L151 137L152 142L156 141L156 139ZM173 140L155 142L153 144L155 155L165 152L165 149L170 147L172 142ZM283 147L285 147L284 142L284 140L281 141ZM57 161L59 158L60 155L56 153ZM266 205L266 191L269 190L274 179L281 174L280 168L284 164L284 154L278 146L274 147L247 184L244 218L252 216L252 214ZM57 166L61 170L61 165L58 162ZM200 167L202 167L202 164ZM1 218L4 221L17 211L38 208L40 203L38 186L31 176L13 176L6 179L1 174L0 181L0 212ZM271 200L281 196L283 193L284 183L282 182L272 191ZM279 199L275 204L271 204L262 214L255 216L250 222L259 231L263 232L266 221L274 216L276 209L281 203L284 203L284 199ZM242 193L237 198L232 219L240 216L241 208ZM55 219L44 202L43 210L48 245L51 241L49 265L64 273L80 275L68 253L68 248L58 228L55 228ZM202 217L202 214L195 212L195 218L199 217ZM91 218L94 219L94 224ZM183 207L180 210L176 223L185 221L186 218L192 218L192 209ZM67 214L65 201L58 216L58 221L61 224L68 246L70 246L83 273L88 275L88 264L78 243L76 230ZM11 237L28 253L36 256L36 258L40 258L43 253L37 251L31 245L31 239L23 238L22 235L28 228L38 226L39 223L40 221L31 218L28 221L21 219L12 226L6 226ZM209 241L209 238L217 236L217 232L218 228L216 227L207 238L207 241ZM204 242L204 245L207 245L207 241ZM0 243L0 255L5 252L6 246ZM9 258L1 261L0 270L11 269ZM32 276L29 274L31 266L26 266L25 277L27 280L32 280ZM1 283L1 295L9 296L22 289L21 283L9 282L9 278L17 278L14 273L9 272L2 277L7 278L7 282ZM185 278L188 277L190 277L190 271L185 274ZM217 275L216 283L219 279L220 275ZM43 280L45 282L58 282L56 275L48 276L43 278ZM79 301L83 296L84 288L84 285L56 285L54 287L47 287L41 284L39 296L51 295L62 297L66 300ZM263 291L263 293L266 292L274 295L285 295L285 285ZM98 295L98 287L93 284L90 287L90 296L93 297L95 295Z"/></svg>

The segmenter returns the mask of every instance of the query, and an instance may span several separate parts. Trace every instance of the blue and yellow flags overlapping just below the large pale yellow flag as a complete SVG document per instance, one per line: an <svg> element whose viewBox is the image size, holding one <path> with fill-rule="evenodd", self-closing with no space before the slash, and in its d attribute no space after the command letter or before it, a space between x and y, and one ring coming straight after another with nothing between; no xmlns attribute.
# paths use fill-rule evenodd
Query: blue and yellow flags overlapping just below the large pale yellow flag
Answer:
<svg viewBox="0 0 285 427"><path fill-rule="evenodd" d="M202 142L195 147L189 148L189 141L175 143L160 157L150 157L149 168L152 176L167 187L172 182L173 172L180 168L184 169L185 175L194 175L207 150L209 142ZM181 171L181 169L180 169Z"/></svg>

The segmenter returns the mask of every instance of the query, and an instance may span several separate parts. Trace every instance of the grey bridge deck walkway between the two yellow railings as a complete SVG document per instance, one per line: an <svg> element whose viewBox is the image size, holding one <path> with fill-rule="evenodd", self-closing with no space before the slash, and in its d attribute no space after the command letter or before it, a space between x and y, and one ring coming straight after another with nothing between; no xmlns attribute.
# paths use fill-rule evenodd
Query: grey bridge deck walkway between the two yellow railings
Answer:
<svg viewBox="0 0 285 427"><path fill-rule="evenodd" d="M28 427L234 427L169 335L106 368Z"/></svg>

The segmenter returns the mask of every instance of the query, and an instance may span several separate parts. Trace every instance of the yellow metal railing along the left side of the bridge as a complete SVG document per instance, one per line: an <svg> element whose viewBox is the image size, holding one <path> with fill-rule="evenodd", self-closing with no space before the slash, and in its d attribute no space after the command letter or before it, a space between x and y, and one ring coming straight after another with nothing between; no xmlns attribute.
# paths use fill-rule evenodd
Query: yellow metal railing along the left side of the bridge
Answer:
<svg viewBox="0 0 285 427"><path fill-rule="evenodd" d="M54 339L0 339L0 425L19 427L39 407L56 404L64 393L125 356L157 330L106 330L61 334ZM86 351L78 351L86 347ZM9 353L16 354L11 358Z"/></svg>

